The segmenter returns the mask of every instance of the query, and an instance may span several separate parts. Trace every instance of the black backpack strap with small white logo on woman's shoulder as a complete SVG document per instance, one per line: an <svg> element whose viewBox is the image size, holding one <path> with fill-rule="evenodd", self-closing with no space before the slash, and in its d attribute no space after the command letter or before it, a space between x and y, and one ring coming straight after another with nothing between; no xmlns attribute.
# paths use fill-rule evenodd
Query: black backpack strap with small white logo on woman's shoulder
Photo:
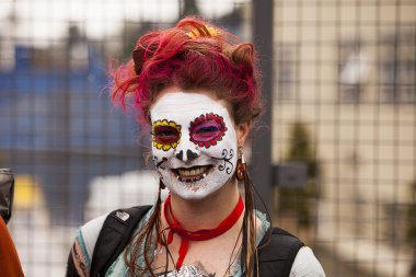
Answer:
<svg viewBox="0 0 416 277"><path fill-rule="evenodd" d="M140 219L152 206L138 206L112 211L105 219L95 243L90 276L104 276L130 241Z"/></svg>

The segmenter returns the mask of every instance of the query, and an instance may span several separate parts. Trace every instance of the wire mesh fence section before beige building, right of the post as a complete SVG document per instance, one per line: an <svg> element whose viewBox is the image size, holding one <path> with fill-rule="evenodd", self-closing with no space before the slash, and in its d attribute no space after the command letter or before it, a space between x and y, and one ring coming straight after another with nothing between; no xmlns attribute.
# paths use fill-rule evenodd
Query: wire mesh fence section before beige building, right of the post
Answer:
<svg viewBox="0 0 416 277"><path fill-rule="evenodd" d="M309 161L298 209L286 206L332 254L328 276L412 275L415 8L275 2L274 158Z"/></svg>

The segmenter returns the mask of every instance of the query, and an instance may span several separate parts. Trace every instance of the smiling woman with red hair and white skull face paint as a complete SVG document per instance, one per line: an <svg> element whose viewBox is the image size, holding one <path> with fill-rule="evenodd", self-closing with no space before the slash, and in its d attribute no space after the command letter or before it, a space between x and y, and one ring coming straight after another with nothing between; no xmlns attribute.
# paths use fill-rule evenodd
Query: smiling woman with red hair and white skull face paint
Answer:
<svg viewBox="0 0 416 277"><path fill-rule="evenodd" d="M252 45L186 18L139 38L131 60L113 77L113 100L134 103L138 119L151 126L160 188L106 276L266 276L264 268L278 268L277 262L266 266L267 257L290 255L270 240L270 222L254 209L242 152L262 107ZM164 187L170 196L162 204ZM67 275L90 275L103 221L79 230ZM312 251L299 249L290 276L324 276Z"/></svg>

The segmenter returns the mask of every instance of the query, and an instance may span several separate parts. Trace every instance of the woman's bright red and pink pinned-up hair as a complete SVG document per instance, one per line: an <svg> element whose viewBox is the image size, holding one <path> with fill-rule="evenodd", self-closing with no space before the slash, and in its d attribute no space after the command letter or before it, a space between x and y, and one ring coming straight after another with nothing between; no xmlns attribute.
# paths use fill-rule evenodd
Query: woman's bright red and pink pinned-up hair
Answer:
<svg viewBox="0 0 416 277"><path fill-rule="evenodd" d="M111 73L113 102L126 108L132 101L141 123L158 92L169 85L215 92L231 104L236 124L262 109L253 45L194 18L140 37L131 59Z"/></svg>

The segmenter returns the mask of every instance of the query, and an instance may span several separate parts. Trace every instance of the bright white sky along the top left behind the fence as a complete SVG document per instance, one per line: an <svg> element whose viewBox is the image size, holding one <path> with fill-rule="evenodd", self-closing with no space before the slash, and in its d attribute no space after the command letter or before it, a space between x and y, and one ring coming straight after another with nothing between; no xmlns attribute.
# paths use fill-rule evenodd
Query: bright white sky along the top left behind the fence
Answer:
<svg viewBox="0 0 416 277"><path fill-rule="evenodd" d="M220 16L235 3L250 0L199 0L203 15ZM15 14L16 23L7 19ZM122 28L124 20L174 22L177 0L1 0L0 35L16 37L23 44L47 45L67 34L74 22L90 38L111 36Z"/></svg>

